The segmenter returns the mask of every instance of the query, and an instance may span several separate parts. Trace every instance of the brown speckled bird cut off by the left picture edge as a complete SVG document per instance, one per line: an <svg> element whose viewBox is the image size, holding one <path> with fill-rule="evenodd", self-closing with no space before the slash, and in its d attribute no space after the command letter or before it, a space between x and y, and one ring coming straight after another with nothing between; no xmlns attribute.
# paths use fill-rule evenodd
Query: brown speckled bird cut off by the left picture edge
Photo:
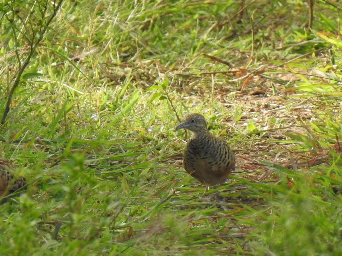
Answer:
<svg viewBox="0 0 342 256"><path fill-rule="evenodd" d="M15 176L15 169L11 162L0 158L0 197L11 194L25 186L25 177Z"/></svg>

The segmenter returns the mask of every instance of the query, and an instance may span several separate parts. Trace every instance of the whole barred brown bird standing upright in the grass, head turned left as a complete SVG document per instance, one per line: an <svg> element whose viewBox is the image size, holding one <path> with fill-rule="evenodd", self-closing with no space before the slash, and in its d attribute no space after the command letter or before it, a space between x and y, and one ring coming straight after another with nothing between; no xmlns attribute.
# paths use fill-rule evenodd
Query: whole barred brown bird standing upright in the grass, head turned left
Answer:
<svg viewBox="0 0 342 256"><path fill-rule="evenodd" d="M194 178L209 186L222 184L235 169L234 153L228 144L215 137L201 114L188 114L175 130L188 129L192 135L184 146L183 166Z"/></svg>

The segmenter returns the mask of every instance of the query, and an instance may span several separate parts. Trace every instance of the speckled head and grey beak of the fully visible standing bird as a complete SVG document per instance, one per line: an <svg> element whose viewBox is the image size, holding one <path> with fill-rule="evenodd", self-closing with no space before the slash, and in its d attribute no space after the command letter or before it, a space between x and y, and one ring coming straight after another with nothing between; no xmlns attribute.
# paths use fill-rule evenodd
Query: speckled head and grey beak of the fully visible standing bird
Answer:
<svg viewBox="0 0 342 256"><path fill-rule="evenodd" d="M201 114L188 114L184 117L182 123L176 126L175 130L188 129L196 137L200 133L208 132L206 119Z"/></svg>

